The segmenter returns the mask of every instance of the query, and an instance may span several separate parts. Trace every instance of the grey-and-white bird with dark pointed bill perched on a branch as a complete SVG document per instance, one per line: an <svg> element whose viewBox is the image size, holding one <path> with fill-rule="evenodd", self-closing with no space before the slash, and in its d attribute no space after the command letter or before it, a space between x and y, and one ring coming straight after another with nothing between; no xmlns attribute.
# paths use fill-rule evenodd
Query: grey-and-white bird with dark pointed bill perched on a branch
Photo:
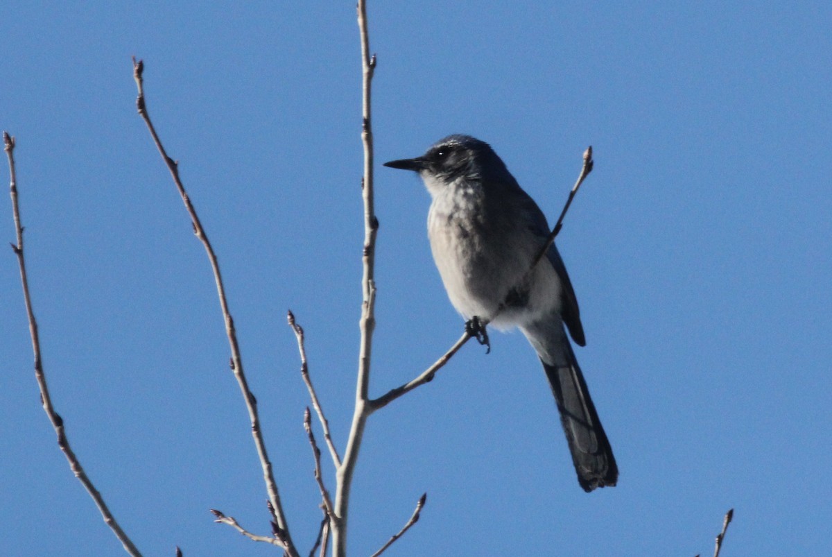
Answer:
<svg viewBox="0 0 832 557"><path fill-rule="evenodd" d="M433 261L468 330L516 326L537 352L578 484L587 493L616 485L612 447L567 338L568 331L578 346L586 345L575 291L554 242L532 266L550 233L537 203L488 143L467 135L445 137L421 157L384 166L422 178L432 198Z"/></svg>

